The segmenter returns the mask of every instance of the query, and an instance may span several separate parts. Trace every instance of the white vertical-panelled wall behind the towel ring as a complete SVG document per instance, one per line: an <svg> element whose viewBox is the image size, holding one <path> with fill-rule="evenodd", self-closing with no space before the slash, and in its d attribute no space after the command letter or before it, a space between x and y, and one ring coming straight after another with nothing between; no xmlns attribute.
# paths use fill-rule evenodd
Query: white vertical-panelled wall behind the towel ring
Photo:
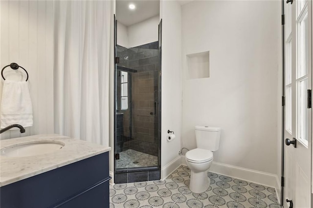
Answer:
<svg viewBox="0 0 313 208"><path fill-rule="evenodd" d="M27 70L34 116L25 133L10 130L0 138L53 133L53 1L1 0L0 5L0 67L17 62ZM18 71L8 67L4 76L24 79Z"/></svg>

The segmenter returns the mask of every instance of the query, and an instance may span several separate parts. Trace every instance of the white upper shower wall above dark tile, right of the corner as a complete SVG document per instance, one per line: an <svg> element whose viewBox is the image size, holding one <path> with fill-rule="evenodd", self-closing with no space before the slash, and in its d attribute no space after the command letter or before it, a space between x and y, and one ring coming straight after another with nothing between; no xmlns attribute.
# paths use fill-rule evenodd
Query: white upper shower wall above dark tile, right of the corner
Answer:
<svg viewBox="0 0 313 208"><path fill-rule="evenodd" d="M129 47L156 42L158 40L159 16L128 26ZM117 33L118 34L118 33Z"/></svg>

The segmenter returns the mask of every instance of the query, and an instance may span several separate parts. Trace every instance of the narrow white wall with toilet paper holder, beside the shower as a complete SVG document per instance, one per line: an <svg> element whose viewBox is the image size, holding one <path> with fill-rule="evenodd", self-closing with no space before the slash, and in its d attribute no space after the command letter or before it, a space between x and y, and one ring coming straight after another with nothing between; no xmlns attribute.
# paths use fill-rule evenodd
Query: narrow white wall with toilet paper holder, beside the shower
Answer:
<svg viewBox="0 0 313 208"><path fill-rule="evenodd" d="M177 1L161 1L162 18L162 123L161 178L180 165L181 137L181 8ZM176 139L167 142L167 130ZM174 169L173 169L174 168Z"/></svg>

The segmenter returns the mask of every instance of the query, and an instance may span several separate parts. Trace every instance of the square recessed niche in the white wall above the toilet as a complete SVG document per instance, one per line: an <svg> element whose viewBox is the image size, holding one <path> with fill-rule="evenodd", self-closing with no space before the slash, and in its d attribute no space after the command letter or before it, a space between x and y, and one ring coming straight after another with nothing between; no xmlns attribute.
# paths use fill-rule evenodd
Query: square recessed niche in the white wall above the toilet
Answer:
<svg viewBox="0 0 313 208"><path fill-rule="evenodd" d="M210 52L187 54L187 79L201 79L210 77Z"/></svg>

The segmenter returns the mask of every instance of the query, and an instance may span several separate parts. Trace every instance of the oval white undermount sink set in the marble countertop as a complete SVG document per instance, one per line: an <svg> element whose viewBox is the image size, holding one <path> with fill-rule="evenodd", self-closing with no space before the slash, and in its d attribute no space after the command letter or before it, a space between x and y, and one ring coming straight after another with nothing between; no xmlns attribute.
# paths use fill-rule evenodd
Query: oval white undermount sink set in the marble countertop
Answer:
<svg viewBox="0 0 313 208"><path fill-rule="evenodd" d="M64 143L56 141L36 141L20 143L0 149L0 155L6 157L27 157L51 153L64 147Z"/></svg>

